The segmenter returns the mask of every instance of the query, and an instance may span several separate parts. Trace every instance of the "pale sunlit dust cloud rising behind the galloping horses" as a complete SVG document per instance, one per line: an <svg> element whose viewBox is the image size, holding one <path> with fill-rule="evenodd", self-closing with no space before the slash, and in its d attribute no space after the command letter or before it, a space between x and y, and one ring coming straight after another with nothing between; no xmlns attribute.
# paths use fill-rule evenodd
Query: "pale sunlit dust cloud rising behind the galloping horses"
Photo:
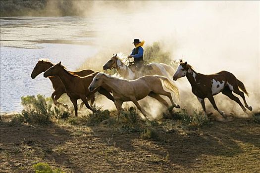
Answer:
<svg viewBox="0 0 260 173"><path fill-rule="evenodd" d="M250 93L248 104L253 111L260 111L258 1L93 1L88 8L82 3L74 3L82 15L102 18L94 23L96 45L101 53L93 59L98 59L100 67L113 53L129 54L134 38L146 42L145 50L146 45L160 42L163 50L171 53L172 60L184 59L199 73L233 73ZM87 60L89 65L95 62L93 59ZM175 84L180 89L178 104L182 108L202 109L186 78ZM152 99L146 100L150 107L156 104L157 109L150 109L156 117L161 106ZM227 114L245 116L240 106L226 96L216 95L215 101ZM208 111L218 114L207 99L206 105Z"/></svg>

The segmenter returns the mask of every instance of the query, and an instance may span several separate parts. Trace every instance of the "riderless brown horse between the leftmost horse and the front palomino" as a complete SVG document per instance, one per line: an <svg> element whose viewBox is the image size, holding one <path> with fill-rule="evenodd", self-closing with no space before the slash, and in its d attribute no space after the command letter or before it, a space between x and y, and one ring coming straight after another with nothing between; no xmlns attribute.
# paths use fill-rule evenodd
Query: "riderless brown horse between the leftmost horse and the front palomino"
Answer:
<svg viewBox="0 0 260 173"><path fill-rule="evenodd" d="M77 75L73 75L69 73L62 65L61 62L57 63L56 65L49 68L45 73L44 77L50 77L50 76L57 76L62 84L65 87L67 95L70 97L71 102L73 103L74 109L75 109L75 116L78 116L78 105L77 100L81 99L87 108L92 110L92 108L88 104L87 98L93 97L94 93L96 91L99 91L99 93L106 96L108 99L114 101L113 96L109 93L111 91L109 87L106 85L103 85L95 90L93 92L90 92L88 87L90 83L92 82L95 75L99 72L95 72L91 75L80 77Z"/></svg>

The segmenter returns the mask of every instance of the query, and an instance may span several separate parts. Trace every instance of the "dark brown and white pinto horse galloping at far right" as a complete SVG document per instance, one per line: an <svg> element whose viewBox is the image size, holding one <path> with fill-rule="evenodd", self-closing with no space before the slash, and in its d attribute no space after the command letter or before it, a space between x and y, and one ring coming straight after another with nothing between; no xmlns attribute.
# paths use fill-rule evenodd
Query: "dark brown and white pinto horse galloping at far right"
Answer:
<svg viewBox="0 0 260 173"><path fill-rule="evenodd" d="M248 106L245 99L244 92L248 95L246 87L230 72L221 71L212 75L204 75L195 72L191 65L187 64L187 62L184 63L181 60L181 63L172 79L176 81L177 79L184 76L186 76L188 81L190 82L192 92L201 102L205 115L207 114L204 99L208 98L214 109L217 110L224 118L226 118L225 113L217 108L213 98L213 95L216 95L219 92L222 92L222 94L236 101L241 106L244 112L246 112L246 108L248 108L250 111L253 110L251 106ZM243 92L240 91L239 88ZM243 98L246 108L240 102L239 98L232 94L232 91Z"/></svg>

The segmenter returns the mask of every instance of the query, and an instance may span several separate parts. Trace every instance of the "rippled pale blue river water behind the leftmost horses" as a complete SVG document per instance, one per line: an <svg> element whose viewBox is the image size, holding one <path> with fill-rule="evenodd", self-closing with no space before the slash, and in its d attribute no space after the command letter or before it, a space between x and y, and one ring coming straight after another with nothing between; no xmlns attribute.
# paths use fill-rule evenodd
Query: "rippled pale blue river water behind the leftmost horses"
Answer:
<svg viewBox="0 0 260 173"><path fill-rule="evenodd" d="M98 52L93 20L86 17L0 18L0 111L21 111L21 96L50 96L51 81L31 79L39 59L76 70Z"/></svg>

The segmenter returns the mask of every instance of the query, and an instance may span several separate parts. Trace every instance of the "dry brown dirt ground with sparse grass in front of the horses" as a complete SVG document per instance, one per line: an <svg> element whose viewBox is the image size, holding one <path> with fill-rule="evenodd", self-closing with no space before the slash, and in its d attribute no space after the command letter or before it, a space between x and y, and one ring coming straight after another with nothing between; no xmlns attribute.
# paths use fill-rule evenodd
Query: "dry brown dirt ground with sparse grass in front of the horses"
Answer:
<svg viewBox="0 0 260 173"><path fill-rule="evenodd" d="M199 130L165 120L153 126L156 139L108 125L10 126L8 119L1 116L1 173L34 173L39 162L65 173L260 173L260 124L251 119Z"/></svg>

